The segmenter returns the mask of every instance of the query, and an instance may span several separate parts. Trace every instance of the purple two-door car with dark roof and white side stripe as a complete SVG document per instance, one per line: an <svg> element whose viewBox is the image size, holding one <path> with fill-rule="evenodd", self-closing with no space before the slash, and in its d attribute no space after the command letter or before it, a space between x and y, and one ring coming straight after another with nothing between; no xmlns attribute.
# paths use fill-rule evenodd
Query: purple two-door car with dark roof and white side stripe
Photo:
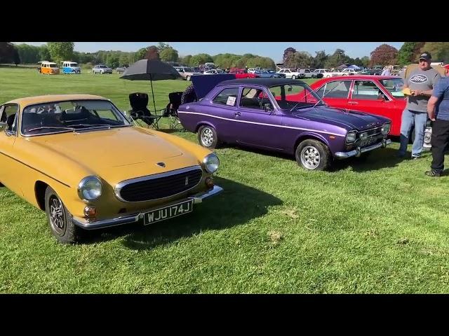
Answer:
<svg viewBox="0 0 449 336"><path fill-rule="evenodd" d="M226 142L289 153L309 170L391 144L388 118L330 108L302 80L225 80L199 102L182 104L178 116L204 147Z"/></svg>

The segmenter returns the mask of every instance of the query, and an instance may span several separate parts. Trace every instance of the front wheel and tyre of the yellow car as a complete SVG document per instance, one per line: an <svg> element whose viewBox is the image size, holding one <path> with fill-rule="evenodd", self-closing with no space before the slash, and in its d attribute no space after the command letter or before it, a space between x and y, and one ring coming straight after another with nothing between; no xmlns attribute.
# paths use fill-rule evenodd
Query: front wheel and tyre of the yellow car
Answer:
<svg viewBox="0 0 449 336"><path fill-rule="evenodd" d="M51 187L47 187L45 192L45 211L51 233L60 243L71 244L79 240L82 229L74 225L69 211Z"/></svg>

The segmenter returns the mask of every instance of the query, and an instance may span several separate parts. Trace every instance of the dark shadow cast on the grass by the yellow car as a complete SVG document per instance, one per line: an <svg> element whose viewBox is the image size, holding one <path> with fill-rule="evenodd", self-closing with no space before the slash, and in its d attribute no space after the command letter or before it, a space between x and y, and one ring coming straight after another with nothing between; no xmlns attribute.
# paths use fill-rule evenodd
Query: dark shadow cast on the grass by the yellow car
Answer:
<svg viewBox="0 0 449 336"><path fill-rule="evenodd" d="M253 218L267 214L268 207L283 204L273 195L235 181L215 177L215 183L224 191L201 204L195 204L190 214L148 226L134 223L86 232L83 244L124 237L123 245L128 248L151 249L203 231L222 230L248 223Z"/></svg>

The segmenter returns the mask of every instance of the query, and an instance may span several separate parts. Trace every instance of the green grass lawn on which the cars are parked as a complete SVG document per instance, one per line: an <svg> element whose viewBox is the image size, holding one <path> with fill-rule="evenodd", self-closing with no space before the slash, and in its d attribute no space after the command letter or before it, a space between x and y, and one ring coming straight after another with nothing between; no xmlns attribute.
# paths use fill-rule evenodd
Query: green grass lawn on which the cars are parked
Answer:
<svg viewBox="0 0 449 336"><path fill-rule="evenodd" d="M0 78L0 103L88 93L124 110L130 92L149 92L148 82L116 74L0 68ZM154 82L157 107L188 84ZM0 293L448 293L449 177L424 176L429 153L401 162L396 148L337 162L333 172L220 148L220 196L187 216L94 232L72 246L53 239L42 211L0 188Z"/></svg>

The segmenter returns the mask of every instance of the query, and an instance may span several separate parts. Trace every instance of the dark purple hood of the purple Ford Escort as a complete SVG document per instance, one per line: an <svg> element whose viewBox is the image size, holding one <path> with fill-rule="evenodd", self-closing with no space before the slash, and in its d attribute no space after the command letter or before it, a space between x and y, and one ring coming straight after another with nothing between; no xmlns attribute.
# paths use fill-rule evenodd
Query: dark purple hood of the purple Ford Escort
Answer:
<svg viewBox="0 0 449 336"><path fill-rule="evenodd" d="M325 106L302 109L292 114L297 118L319 121L321 123L332 123L336 126L351 127L351 129L355 128L356 130L368 130L389 121L389 119L381 116Z"/></svg>

